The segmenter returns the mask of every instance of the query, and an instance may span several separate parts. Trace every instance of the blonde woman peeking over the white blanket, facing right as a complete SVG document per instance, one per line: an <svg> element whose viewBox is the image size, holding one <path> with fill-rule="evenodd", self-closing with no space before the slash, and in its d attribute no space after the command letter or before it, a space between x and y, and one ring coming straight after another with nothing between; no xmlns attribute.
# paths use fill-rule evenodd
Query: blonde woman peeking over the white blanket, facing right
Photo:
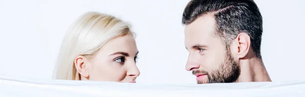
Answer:
<svg viewBox="0 0 305 97"><path fill-rule="evenodd" d="M111 15L87 12L69 28L53 77L135 83L138 49L130 24Z"/></svg>

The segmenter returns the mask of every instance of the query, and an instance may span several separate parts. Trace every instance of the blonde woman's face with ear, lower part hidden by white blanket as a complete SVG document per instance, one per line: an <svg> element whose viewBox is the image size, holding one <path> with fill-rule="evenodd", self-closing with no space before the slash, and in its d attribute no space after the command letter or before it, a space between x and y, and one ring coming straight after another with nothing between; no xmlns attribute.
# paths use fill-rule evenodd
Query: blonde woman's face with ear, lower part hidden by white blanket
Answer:
<svg viewBox="0 0 305 97"><path fill-rule="evenodd" d="M83 62L85 66L77 65L76 68L82 79L134 83L140 75L136 66L137 54L134 37L121 36L107 42L92 60L81 59L78 64Z"/></svg>

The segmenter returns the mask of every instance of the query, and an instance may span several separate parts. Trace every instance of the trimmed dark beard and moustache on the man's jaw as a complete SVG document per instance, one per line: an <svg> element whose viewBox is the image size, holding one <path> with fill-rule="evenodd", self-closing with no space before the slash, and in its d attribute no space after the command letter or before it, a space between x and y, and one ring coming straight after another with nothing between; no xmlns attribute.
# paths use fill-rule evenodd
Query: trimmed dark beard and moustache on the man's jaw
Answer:
<svg viewBox="0 0 305 97"><path fill-rule="evenodd" d="M206 74L207 81L197 81L198 84L202 83L231 83L235 82L240 75L240 67L234 61L229 50L226 50L225 60L220 65L220 68L211 72L196 70L193 74Z"/></svg>

